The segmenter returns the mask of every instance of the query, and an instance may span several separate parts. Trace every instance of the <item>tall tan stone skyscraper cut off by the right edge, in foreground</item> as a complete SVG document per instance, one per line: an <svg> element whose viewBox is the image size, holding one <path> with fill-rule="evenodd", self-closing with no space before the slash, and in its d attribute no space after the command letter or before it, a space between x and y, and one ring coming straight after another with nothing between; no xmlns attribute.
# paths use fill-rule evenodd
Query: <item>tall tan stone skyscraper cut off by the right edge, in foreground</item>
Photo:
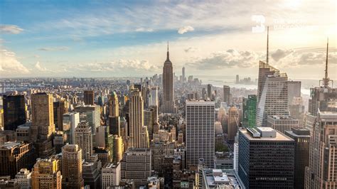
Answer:
<svg viewBox="0 0 337 189"><path fill-rule="evenodd" d="M310 139L305 188L337 187L337 112L317 112Z"/></svg>

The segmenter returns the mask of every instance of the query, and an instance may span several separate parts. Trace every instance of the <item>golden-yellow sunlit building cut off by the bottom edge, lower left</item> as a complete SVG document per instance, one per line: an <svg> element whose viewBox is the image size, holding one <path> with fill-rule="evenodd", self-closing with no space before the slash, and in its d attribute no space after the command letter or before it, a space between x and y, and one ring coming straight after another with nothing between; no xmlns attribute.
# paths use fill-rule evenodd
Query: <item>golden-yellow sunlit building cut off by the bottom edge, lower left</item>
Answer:
<svg viewBox="0 0 337 189"><path fill-rule="evenodd" d="M38 158L31 173L32 189L62 188L62 175L58 170L58 161L55 157Z"/></svg>

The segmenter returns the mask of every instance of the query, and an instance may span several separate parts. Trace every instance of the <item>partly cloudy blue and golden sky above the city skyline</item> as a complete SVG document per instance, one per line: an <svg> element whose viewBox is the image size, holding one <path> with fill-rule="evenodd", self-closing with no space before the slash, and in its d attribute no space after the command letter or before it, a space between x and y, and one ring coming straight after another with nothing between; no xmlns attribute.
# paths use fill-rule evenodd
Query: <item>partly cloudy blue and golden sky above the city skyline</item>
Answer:
<svg viewBox="0 0 337 189"><path fill-rule="evenodd" d="M290 79L337 80L336 0L0 1L0 77L256 78L259 60Z"/></svg>

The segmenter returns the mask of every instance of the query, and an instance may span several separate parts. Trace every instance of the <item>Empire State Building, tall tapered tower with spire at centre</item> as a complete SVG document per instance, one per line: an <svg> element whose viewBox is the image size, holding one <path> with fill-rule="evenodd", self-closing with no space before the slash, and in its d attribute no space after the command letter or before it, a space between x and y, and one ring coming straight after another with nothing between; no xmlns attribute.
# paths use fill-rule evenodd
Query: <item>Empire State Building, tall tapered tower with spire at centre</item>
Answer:
<svg viewBox="0 0 337 189"><path fill-rule="evenodd" d="M163 67L163 103L161 112L176 113L173 99L173 66L169 55L169 43L167 44L167 57Z"/></svg>

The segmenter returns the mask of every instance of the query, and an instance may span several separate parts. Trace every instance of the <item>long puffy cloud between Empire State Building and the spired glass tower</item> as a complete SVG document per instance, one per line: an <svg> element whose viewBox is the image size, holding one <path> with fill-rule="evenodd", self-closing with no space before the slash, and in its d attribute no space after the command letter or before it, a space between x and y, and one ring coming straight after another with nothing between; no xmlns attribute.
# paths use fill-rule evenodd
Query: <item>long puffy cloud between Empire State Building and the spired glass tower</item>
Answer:
<svg viewBox="0 0 337 189"><path fill-rule="evenodd" d="M218 70L223 68L250 68L257 65L258 61L263 58L260 53L252 51L237 51L228 49L223 52L215 52L206 58L200 58L188 63L198 70Z"/></svg>

